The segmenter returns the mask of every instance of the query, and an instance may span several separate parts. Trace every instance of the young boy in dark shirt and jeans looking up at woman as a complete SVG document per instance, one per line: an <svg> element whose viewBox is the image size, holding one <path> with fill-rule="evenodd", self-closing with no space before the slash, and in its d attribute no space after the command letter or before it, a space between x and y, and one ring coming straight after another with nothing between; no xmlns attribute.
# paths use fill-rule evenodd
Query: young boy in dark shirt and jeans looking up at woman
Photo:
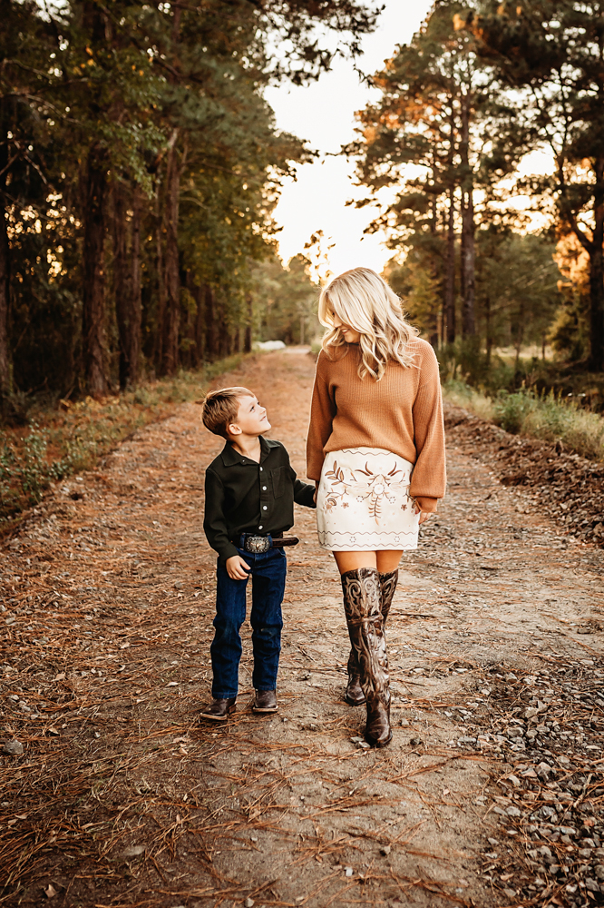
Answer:
<svg viewBox="0 0 604 908"><path fill-rule="evenodd" d="M226 439L206 470L203 528L218 552L216 617L212 659L212 700L201 717L222 722L235 711L246 587L252 577L250 624L254 652L252 683L256 713L277 712L277 672L281 651L281 602L287 559L283 538L294 523L294 501L315 508L315 486L296 479L287 450L263 437L267 411L247 388L210 391L203 402L203 424Z"/></svg>

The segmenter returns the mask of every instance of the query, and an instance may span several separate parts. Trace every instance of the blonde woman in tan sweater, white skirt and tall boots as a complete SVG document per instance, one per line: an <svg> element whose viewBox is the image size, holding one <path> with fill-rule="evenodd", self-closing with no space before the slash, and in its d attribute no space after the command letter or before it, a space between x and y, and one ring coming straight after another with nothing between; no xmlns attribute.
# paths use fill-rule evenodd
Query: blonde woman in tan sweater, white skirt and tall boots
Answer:
<svg viewBox="0 0 604 908"><path fill-rule="evenodd" d="M384 626L404 550L445 488L443 403L434 350L375 271L326 287L319 321L307 475L317 484L319 544L342 576L352 649L346 701L365 703L365 737L392 739Z"/></svg>

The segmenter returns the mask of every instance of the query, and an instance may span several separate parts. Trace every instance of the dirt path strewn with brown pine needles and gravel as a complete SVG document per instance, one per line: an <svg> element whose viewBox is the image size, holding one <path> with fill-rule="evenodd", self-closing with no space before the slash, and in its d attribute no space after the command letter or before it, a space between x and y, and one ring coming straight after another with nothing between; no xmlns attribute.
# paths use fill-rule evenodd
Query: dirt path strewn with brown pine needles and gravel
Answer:
<svg viewBox="0 0 604 908"><path fill-rule="evenodd" d="M304 476L313 360L247 360ZM604 903L602 550L451 436L449 494L388 628L395 737L342 700L340 585L297 509L278 716L199 725L214 557L200 408L63 482L0 553L0 903ZM476 455L478 457L478 454ZM15 737L24 745L19 754ZM600 888L600 883L602 883Z"/></svg>

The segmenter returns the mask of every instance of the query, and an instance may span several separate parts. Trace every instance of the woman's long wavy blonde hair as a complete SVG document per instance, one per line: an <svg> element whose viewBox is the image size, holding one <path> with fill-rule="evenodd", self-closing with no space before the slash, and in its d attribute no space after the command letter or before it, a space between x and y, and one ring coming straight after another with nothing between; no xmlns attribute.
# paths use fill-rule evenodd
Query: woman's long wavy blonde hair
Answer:
<svg viewBox="0 0 604 908"><path fill-rule="evenodd" d="M327 356L346 344L334 316L361 335L359 378L371 375L379 381L390 360L401 366L413 365L414 354L407 350L417 329L404 318L401 301L383 278L370 268L353 268L327 284L321 293L318 317L327 331L321 344Z"/></svg>

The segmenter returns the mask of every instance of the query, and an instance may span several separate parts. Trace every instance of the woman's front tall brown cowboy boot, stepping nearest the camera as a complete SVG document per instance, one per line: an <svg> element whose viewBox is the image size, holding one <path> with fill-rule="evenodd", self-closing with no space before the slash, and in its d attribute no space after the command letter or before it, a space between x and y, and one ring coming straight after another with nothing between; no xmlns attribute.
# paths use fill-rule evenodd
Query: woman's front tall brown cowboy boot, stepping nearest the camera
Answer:
<svg viewBox="0 0 604 908"><path fill-rule="evenodd" d="M375 747L384 747L392 740L392 731L379 574L375 568L346 571L342 590L348 635L367 706L365 738Z"/></svg>

